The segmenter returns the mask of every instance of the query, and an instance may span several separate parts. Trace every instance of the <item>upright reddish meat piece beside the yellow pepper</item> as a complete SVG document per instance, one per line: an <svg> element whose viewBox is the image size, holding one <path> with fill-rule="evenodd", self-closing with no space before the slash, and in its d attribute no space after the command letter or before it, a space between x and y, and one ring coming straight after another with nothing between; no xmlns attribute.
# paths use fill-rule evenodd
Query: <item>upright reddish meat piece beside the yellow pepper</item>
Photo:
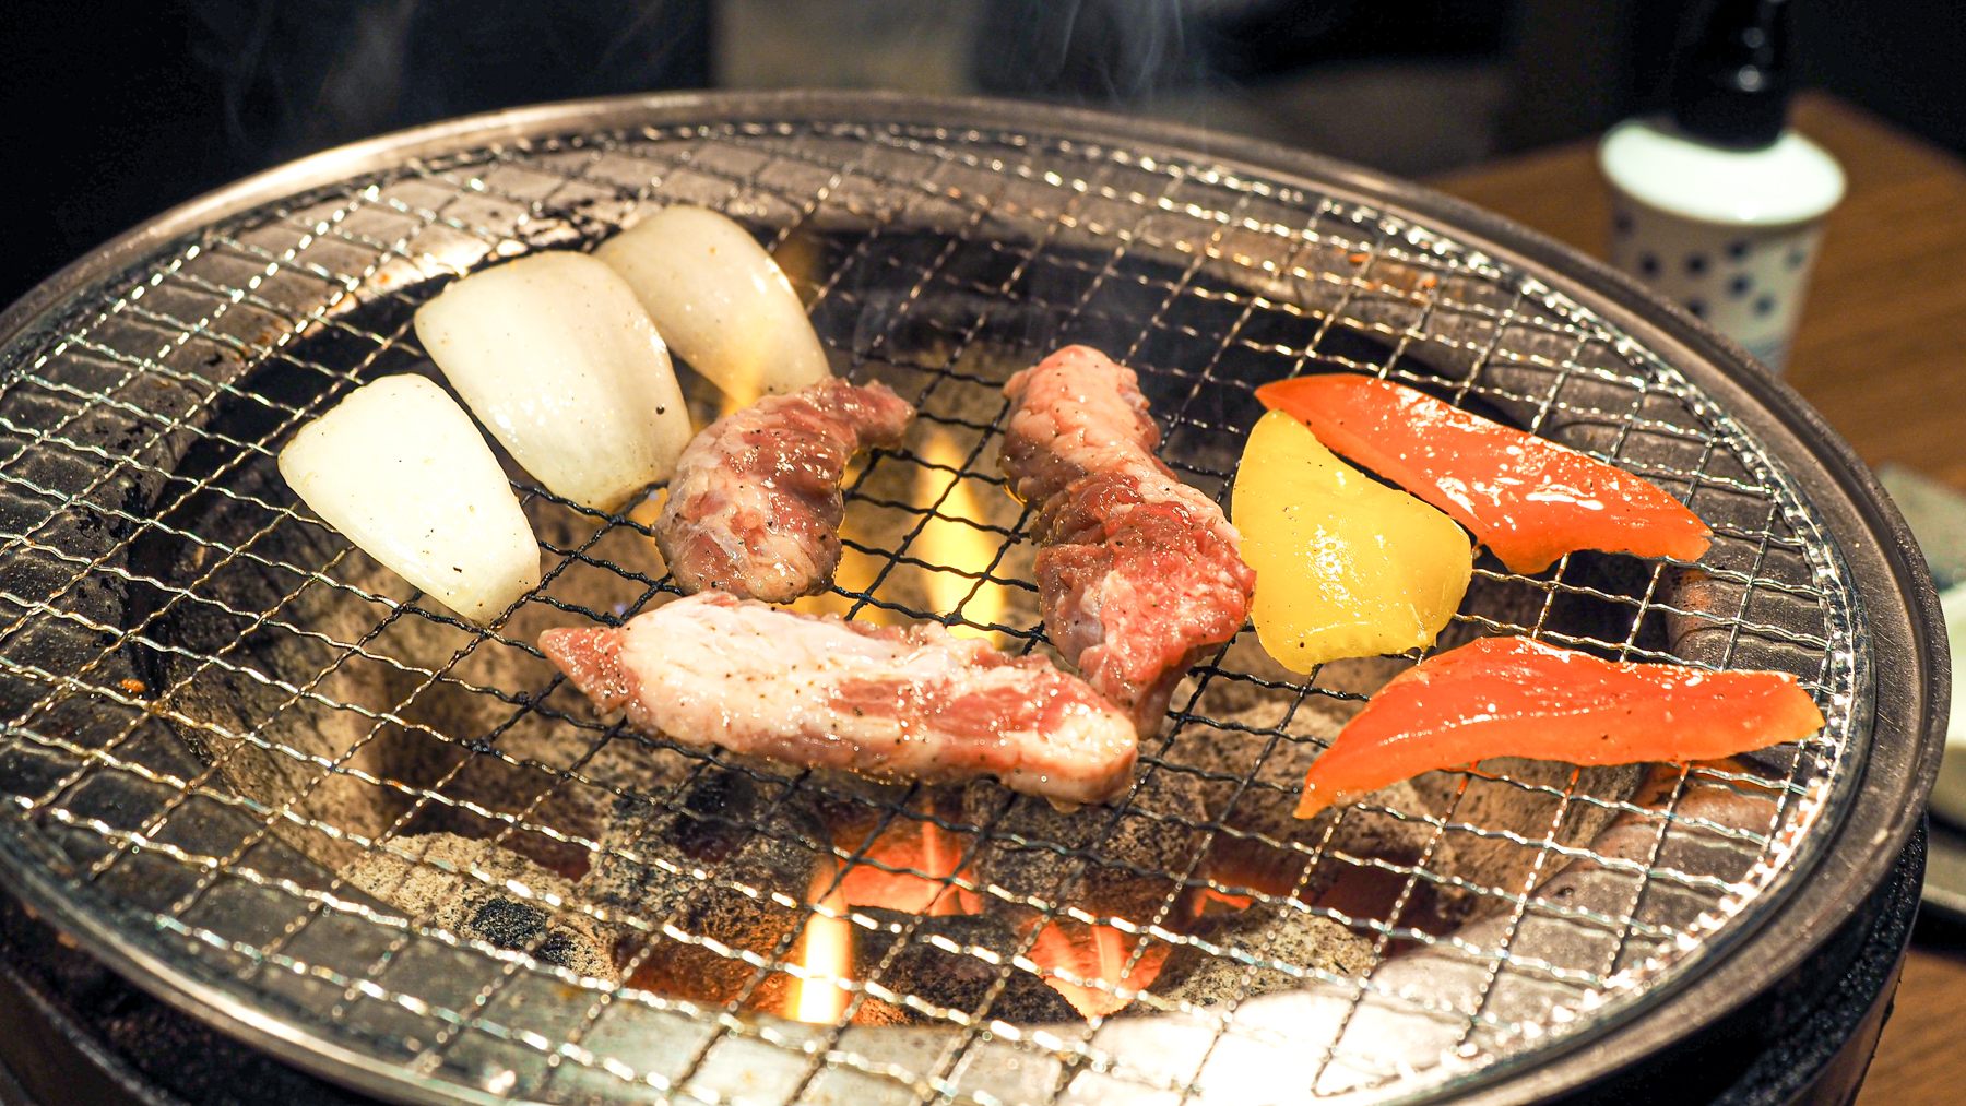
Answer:
<svg viewBox="0 0 1966 1106"><path fill-rule="evenodd" d="M1068 346L1003 385L1011 489L1038 507L1044 629L1095 691L1152 731L1201 654L1233 638L1256 574L1221 507L1160 464L1138 377Z"/></svg>

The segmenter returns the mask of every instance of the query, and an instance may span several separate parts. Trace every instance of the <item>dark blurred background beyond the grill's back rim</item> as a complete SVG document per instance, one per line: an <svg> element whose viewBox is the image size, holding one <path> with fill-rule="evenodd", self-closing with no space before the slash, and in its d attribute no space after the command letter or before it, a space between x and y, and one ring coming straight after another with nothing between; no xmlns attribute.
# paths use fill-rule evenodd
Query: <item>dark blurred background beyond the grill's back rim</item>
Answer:
<svg viewBox="0 0 1966 1106"><path fill-rule="evenodd" d="M0 303L289 157L606 92L885 86L1113 106L1402 175L1657 102L1706 0L14 0ZM1795 0L1799 84L1966 151L1956 0Z"/></svg>

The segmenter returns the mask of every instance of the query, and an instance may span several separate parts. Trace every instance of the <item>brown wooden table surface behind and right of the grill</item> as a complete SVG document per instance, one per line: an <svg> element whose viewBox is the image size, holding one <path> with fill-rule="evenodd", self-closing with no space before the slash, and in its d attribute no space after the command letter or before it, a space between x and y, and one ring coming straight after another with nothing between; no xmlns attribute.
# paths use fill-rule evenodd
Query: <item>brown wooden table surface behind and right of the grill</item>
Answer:
<svg viewBox="0 0 1966 1106"><path fill-rule="evenodd" d="M1830 214L1789 383L1872 466L1966 491L1966 165L1828 96L1795 126L1834 153ZM1610 196L1592 143L1480 165L1433 187L1604 255ZM1921 937L1905 961L1860 1106L1966 1100L1966 947Z"/></svg>

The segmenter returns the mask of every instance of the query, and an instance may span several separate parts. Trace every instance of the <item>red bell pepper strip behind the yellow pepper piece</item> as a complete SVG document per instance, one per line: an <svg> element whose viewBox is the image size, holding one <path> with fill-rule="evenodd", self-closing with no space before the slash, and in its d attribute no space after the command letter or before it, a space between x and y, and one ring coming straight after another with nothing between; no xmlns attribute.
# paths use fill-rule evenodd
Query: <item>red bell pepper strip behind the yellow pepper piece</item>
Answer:
<svg viewBox="0 0 1966 1106"><path fill-rule="evenodd" d="M1404 385L1333 373L1268 383L1256 399L1467 526L1510 572L1575 550L1699 560L1712 536L1642 477Z"/></svg>

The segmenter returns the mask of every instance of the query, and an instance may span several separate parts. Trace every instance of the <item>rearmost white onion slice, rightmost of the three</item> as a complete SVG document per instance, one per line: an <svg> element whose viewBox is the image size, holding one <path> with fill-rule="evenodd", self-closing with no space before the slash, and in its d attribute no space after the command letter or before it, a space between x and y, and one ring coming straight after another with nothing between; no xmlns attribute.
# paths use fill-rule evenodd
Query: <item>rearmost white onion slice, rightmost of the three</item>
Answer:
<svg viewBox="0 0 1966 1106"><path fill-rule="evenodd" d="M832 375L798 293L751 234L708 208L663 208L604 242L663 338L739 405Z"/></svg>

